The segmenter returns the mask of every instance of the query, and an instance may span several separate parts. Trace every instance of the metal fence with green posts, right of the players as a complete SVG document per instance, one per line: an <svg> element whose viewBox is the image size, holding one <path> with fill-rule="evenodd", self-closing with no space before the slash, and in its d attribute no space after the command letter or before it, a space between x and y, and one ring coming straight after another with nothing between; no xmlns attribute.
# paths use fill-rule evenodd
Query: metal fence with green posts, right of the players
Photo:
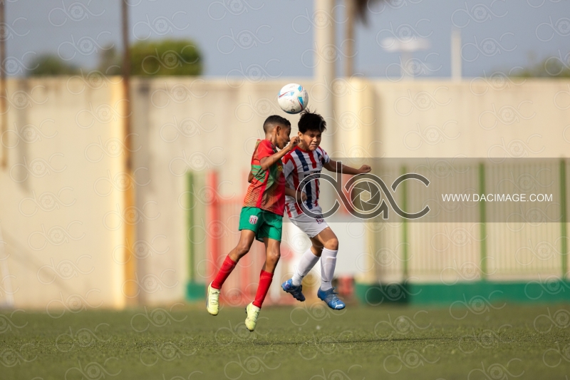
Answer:
<svg viewBox="0 0 570 380"><path fill-rule="evenodd" d="M455 284L477 280L524 280L546 277L565 278L568 272L567 205L568 169L560 159L539 163L478 164L478 170L461 175L451 184L449 192L465 189L477 193L539 191L546 184L553 192L552 212L556 218L545 217L543 210L524 211L526 222L497 222L489 217L489 202L479 202L462 210L469 222L373 222L366 223L373 241L371 262L379 282L441 282ZM426 174L421 168L414 173ZM406 165L381 168L377 175L391 179L410 170ZM427 169L426 169L427 170ZM539 173L541 183L537 180ZM492 185L491 185L492 184ZM404 189L405 190L405 189ZM420 192L408 190L398 194L398 202L418 210L426 204ZM467 207L467 205L462 205ZM516 202L498 202L493 212L518 215ZM543 207L544 208L544 207ZM534 219L533 219L534 218ZM490 219L490 221L489 221ZM496 219L496 216L495 216Z"/></svg>

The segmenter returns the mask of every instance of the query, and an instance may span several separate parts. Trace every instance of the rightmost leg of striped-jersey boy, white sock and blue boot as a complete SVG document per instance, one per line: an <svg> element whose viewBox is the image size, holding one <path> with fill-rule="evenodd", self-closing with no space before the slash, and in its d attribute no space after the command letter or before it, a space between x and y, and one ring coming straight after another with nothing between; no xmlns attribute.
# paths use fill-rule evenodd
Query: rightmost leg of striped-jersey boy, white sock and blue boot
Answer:
<svg viewBox="0 0 570 380"><path fill-rule="evenodd" d="M326 302L331 309L344 309L346 305L337 297L332 284L336 267L336 254L338 253L338 239L331 227L326 227L319 232L315 239L323 245L323 252L321 253L321 287L318 289L317 297Z"/></svg>

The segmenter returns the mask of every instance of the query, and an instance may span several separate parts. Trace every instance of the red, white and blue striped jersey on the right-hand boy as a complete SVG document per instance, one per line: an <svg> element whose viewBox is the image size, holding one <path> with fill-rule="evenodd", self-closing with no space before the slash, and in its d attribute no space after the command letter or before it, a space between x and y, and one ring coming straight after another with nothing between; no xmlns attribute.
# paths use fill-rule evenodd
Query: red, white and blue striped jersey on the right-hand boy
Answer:
<svg viewBox="0 0 570 380"><path fill-rule="evenodd" d="M287 153L283 161L283 174L289 184L289 188L296 189L307 175L313 173L321 173L323 165L331 160L323 148L318 147L316 150L303 150L296 146L294 150ZM311 180L305 185L307 199L306 207L312 212L322 212L321 206L318 205L319 180ZM289 217L296 217L303 213L303 210L297 204L294 197L285 196L285 211Z"/></svg>

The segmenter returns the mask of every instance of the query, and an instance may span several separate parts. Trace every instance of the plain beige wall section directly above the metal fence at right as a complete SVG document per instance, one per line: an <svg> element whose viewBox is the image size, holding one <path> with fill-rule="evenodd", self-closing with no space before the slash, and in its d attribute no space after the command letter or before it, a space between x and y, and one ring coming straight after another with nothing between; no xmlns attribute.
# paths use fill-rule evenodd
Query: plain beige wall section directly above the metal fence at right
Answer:
<svg viewBox="0 0 570 380"><path fill-rule="evenodd" d="M568 81L374 82L385 157L567 157Z"/></svg>

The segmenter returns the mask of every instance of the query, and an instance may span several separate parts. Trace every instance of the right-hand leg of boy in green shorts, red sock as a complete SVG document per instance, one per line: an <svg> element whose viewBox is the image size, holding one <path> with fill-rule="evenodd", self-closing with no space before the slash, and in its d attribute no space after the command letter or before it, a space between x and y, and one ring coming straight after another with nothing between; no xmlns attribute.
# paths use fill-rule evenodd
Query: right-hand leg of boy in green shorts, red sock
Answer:
<svg viewBox="0 0 570 380"><path fill-rule="evenodd" d="M249 331L254 331L257 324L257 317L263 304L269 286L273 281L273 274L279 257L281 257L281 231L283 230L282 217L271 212L266 212L264 215L264 223L259 227L258 237L263 238L265 245L265 263L261 268L259 274L259 285L255 294L255 300L248 304L245 311L247 318L245 325Z"/></svg>

